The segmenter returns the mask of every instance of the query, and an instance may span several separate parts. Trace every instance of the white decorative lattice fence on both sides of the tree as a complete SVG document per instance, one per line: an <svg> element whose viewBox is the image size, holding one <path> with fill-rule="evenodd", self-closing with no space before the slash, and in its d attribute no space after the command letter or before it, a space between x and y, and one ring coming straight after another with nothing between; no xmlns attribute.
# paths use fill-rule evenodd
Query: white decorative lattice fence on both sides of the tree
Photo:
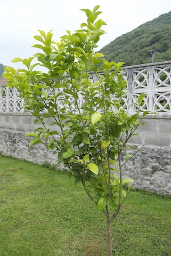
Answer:
<svg viewBox="0 0 171 256"><path fill-rule="evenodd" d="M171 115L171 61L124 67L124 78L127 81L124 106L129 112L134 113L134 103L145 93L141 110ZM0 113L22 113L23 105L16 89L0 87Z"/></svg>

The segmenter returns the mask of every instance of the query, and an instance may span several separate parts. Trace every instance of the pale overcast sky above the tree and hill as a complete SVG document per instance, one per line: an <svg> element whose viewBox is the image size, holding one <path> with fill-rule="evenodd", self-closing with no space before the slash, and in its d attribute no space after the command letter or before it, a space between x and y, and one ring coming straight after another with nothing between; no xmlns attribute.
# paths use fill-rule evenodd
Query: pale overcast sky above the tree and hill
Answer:
<svg viewBox="0 0 171 256"><path fill-rule="evenodd" d="M20 63L11 60L29 58L36 53L31 46L36 43L34 35L38 29L53 30L56 41L66 34L74 33L80 24L86 22L86 15L80 9L100 5L99 16L107 23L98 42L103 46L143 23L171 11L170 0L0 0L0 63L21 68ZM115 60L114 60L115 61Z"/></svg>

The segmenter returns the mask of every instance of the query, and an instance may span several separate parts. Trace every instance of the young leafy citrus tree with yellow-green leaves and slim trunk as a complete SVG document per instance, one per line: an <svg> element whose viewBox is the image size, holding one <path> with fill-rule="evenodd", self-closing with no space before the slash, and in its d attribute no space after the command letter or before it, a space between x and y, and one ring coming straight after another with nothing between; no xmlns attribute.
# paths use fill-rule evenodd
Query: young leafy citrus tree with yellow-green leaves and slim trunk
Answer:
<svg viewBox="0 0 171 256"><path fill-rule="evenodd" d="M60 42L52 41L51 31L39 30L33 47L40 53L29 59L15 58L13 62L22 62L25 69L6 67L4 77L9 80L7 86L17 88L25 99L25 111L40 124L28 134L34 136L30 146L44 143L58 153L58 166L64 163L69 167L75 183L82 182L88 197L103 212L111 256L111 224L133 182L123 179L122 169L133 157L126 150L140 123L139 105L144 95L137 99L136 114L129 115L123 107L123 63L108 62L95 52L105 25L97 20L98 9L83 9L87 22L74 34L67 31Z"/></svg>

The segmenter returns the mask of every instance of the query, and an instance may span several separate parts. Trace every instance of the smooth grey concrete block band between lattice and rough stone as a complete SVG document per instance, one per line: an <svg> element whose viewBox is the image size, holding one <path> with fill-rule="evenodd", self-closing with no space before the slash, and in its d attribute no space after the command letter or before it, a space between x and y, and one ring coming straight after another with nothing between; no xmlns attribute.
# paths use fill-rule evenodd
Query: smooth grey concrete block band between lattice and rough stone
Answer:
<svg viewBox="0 0 171 256"><path fill-rule="evenodd" d="M0 129L33 132L40 125L35 124L35 117L29 114L2 113L0 115ZM51 120L48 119L49 123ZM137 133L129 142L133 145L171 148L171 116L148 115L144 118L144 125L140 125ZM54 127L53 127L54 128Z"/></svg>

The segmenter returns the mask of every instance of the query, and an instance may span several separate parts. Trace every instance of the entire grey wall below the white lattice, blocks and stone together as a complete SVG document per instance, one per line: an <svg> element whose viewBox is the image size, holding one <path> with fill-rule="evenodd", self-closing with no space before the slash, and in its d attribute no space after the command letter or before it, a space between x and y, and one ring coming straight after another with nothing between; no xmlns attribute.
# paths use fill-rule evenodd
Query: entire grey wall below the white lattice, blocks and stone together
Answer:
<svg viewBox="0 0 171 256"><path fill-rule="evenodd" d="M42 144L28 148L32 132L38 127L30 115L2 114L0 116L0 153L43 164L55 164L56 155ZM126 165L124 177L132 178L134 187L171 195L171 117L152 115L144 119L130 143L139 153ZM130 152L132 153L132 152Z"/></svg>

